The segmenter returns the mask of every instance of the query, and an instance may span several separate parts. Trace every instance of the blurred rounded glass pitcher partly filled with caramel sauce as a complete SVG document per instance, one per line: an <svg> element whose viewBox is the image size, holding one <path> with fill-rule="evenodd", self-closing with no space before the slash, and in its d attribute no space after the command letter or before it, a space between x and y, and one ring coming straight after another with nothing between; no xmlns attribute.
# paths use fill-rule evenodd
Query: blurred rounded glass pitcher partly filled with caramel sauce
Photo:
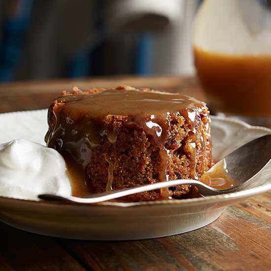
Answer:
<svg viewBox="0 0 271 271"><path fill-rule="evenodd" d="M193 51L212 113L271 127L271 0L204 0Z"/></svg>

